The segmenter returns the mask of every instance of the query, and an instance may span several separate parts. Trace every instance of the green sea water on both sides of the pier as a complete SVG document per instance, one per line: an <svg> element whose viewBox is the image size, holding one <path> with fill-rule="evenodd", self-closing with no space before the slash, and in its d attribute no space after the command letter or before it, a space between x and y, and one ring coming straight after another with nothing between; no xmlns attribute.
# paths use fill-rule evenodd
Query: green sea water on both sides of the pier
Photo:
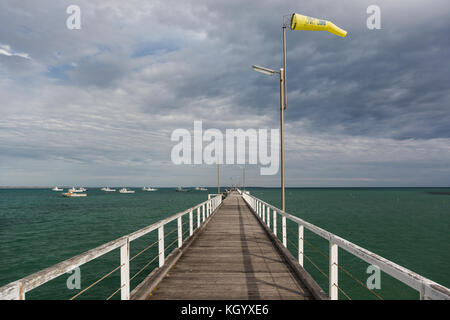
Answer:
<svg viewBox="0 0 450 320"><path fill-rule="evenodd" d="M213 189L211 189L213 190ZM215 190L215 189L214 189ZM249 188L252 195L277 207L279 189ZM450 287L450 188L287 189L286 211L352 241L444 286ZM47 189L0 190L0 286L129 234L207 199L208 192L119 194L89 189L87 198L63 198ZM194 215L194 224L196 219ZM281 220L278 221L281 226ZM166 247L176 245L176 222L166 227ZM187 229L187 217L183 230ZM280 230L280 229L279 229ZM187 234L184 235L186 237ZM296 226L288 222L288 239L295 243ZM305 231L305 267L328 292L327 241ZM131 243L131 256L156 240L153 232ZM168 247L173 250L175 245ZM296 248L288 248L297 255ZM131 262L134 288L157 264L157 245ZM150 262L150 263L149 263ZM120 265L114 250L81 267L81 289ZM366 283L368 265L339 250L339 265ZM318 269L317 269L318 268ZM68 289L65 274L27 293L27 299L68 299L80 290ZM377 299L346 272L339 271L339 287L352 299ZM105 299L120 286L120 272L86 291L78 299ZM417 299L418 293L381 274L384 299ZM113 299L120 297L120 293ZM346 299L340 293L340 299Z"/></svg>

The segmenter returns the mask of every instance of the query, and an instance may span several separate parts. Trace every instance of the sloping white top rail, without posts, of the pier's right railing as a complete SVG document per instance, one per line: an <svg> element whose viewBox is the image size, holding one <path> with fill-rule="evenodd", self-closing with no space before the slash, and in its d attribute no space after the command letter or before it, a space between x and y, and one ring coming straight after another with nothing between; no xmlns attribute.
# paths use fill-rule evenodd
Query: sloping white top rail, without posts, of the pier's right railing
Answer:
<svg viewBox="0 0 450 320"><path fill-rule="evenodd" d="M311 232L330 241L330 243L338 245L340 248L342 248L345 251L349 252L350 254L358 257L359 259L361 259L371 265L378 266L380 268L380 270L389 274L393 278L395 278L395 279L403 282L404 284L408 285L409 287L419 291L421 298L450 300L450 289L448 289L430 279L427 279L407 268L404 268L388 259L385 259L367 249L364 249L348 240L345 240L329 231L326 231L320 227L317 227L312 223L309 223L309 222L307 222L299 217L296 217L292 214L289 214L287 212L284 212L281 209L279 209L259 198L256 198L250 194L242 193L240 190L238 190L238 191L239 191L239 193L242 194L242 196L244 197L244 199L250 206L251 206L251 204L249 203L249 201L247 201L246 197L254 199L255 201L259 202L260 204L264 205L265 207L270 208L273 211L276 211L281 216L288 218L289 220L297 223L298 225L304 226Z"/></svg>

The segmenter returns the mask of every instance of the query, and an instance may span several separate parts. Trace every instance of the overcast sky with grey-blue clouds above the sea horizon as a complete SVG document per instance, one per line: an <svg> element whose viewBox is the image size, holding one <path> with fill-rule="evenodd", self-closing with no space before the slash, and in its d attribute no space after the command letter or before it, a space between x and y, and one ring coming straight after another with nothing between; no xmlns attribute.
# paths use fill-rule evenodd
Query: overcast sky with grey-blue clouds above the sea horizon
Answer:
<svg viewBox="0 0 450 320"><path fill-rule="evenodd" d="M450 186L448 0L2 0L0 185L215 185L172 163L170 135L278 128L279 83L251 65L281 66L292 12L348 36L288 30L287 185Z"/></svg>

